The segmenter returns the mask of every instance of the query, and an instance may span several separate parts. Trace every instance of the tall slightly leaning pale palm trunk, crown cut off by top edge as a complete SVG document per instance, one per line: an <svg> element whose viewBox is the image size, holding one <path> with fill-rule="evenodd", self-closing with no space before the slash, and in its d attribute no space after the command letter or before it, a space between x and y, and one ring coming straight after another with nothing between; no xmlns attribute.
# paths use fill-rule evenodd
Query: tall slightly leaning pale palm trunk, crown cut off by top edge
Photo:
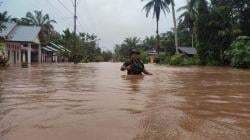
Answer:
<svg viewBox="0 0 250 140"><path fill-rule="evenodd" d="M176 16L175 16L175 3L174 0L165 0L165 2L172 7L172 14L173 14L173 22L174 22L174 33L175 33L175 49L176 54L179 53L179 43L178 43L178 31L177 31L177 23L176 23Z"/></svg>

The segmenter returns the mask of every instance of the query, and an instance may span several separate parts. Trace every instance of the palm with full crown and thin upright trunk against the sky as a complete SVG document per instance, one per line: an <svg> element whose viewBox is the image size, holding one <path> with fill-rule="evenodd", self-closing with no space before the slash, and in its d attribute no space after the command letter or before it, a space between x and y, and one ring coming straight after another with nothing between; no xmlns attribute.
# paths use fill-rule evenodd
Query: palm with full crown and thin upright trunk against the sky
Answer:
<svg viewBox="0 0 250 140"><path fill-rule="evenodd" d="M166 0L142 0L148 1L147 4L143 7L143 10L146 11L146 17L149 16L150 11L153 9L153 18L156 17L156 36L157 36L157 52L160 52L160 37L159 37L159 20L161 11L164 14L170 12L168 3Z"/></svg>

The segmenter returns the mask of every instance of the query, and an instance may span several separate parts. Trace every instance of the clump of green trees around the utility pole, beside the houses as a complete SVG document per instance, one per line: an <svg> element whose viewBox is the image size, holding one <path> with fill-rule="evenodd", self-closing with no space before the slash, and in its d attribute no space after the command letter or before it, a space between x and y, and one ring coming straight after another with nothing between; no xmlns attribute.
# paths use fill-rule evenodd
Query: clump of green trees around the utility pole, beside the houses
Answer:
<svg viewBox="0 0 250 140"><path fill-rule="evenodd" d="M98 47L99 40L95 34L79 33L74 35L69 29L63 31L63 34L54 37L55 42L65 46L71 50L69 54L67 51L61 52L62 56L70 56L70 61L74 63L88 63L88 62L103 62L112 59L112 52L103 51ZM76 42L76 44L74 44Z"/></svg>

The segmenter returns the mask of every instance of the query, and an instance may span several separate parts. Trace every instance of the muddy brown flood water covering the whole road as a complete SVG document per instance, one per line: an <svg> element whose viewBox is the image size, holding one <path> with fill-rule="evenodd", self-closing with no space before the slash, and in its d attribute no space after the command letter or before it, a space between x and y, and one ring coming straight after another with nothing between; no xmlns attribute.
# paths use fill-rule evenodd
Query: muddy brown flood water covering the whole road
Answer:
<svg viewBox="0 0 250 140"><path fill-rule="evenodd" d="M250 71L119 63L0 71L0 140L249 140Z"/></svg>

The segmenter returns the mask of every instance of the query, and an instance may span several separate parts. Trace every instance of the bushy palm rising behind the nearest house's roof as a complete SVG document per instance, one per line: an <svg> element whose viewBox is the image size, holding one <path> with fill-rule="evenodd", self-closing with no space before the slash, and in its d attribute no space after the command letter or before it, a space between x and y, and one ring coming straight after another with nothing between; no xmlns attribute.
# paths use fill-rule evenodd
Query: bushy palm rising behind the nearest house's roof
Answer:
<svg viewBox="0 0 250 140"><path fill-rule="evenodd" d="M41 29L41 42L46 45L49 41L49 35L54 30L53 23L55 20L51 20L48 14L43 14L42 11L34 11L34 13L28 12L25 18L21 19L22 23L40 26Z"/></svg>

